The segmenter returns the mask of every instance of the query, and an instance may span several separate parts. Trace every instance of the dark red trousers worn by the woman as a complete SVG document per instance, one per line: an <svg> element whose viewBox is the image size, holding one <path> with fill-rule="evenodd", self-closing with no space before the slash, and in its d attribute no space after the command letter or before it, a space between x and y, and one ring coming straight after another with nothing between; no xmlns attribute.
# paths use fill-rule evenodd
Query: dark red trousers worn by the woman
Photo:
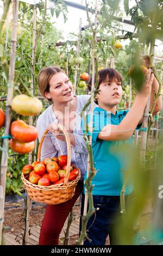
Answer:
<svg viewBox="0 0 163 256"><path fill-rule="evenodd" d="M74 203L83 191L83 182L79 181L72 199L62 204L47 205L43 217L39 245L58 245L59 235Z"/></svg>

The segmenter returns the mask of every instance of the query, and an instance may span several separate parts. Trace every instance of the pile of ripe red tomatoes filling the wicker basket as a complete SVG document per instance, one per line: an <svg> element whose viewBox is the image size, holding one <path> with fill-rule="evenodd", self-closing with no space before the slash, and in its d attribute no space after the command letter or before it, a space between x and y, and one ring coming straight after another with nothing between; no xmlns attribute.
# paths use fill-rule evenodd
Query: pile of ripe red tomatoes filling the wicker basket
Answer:
<svg viewBox="0 0 163 256"><path fill-rule="evenodd" d="M67 156L62 155L46 158L43 161L35 161L23 167L22 172L27 180L39 186L50 186L64 184L67 167ZM79 175L79 170L70 167L68 181L75 180Z"/></svg>

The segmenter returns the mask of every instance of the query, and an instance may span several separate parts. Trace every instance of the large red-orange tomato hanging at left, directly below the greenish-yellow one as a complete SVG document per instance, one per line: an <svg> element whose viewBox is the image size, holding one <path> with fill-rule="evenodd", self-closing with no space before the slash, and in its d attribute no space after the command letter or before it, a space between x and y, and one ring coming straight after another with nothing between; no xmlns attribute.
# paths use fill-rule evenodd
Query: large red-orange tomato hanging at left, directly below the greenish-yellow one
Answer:
<svg viewBox="0 0 163 256"><path fill-rule="evenodd" d="M17 141L31 142L38 136L35 126L26 124L23 120L16 120L11 124L11 135Z"/></svg>

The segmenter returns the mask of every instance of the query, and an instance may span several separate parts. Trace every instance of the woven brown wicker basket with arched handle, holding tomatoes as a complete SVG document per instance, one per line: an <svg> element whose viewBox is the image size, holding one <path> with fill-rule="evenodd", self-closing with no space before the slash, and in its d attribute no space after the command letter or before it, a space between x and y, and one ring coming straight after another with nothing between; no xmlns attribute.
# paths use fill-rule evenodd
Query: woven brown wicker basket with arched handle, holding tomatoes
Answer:
<svg viewBox="0 0 163 256"><path fill-rule="evenodd" d="M70 200L73 195L74 191L76 189L76 185L78 181L80 180L80 169L76 167L76 169L79 170L79 175L75 180L68 181L68 176L70 174L70 166L71 166L71 143L70 138L68 136L68 132L65 130L65 127L61 124L58 124L59 129L64 132L66 143L67 143L67 168L66 168L66 176L65 176L65 182L64 184L57 184L57 185L51 185L51 186L39 186L32 184L28 180L25 179L24 174L22 173L21 178L23 183L26 185L26 189L28 191L28 196L33 199L36 202L45 203L45 204L61 204L68 200ZM47 134L48 130L46 130L43 133L43 136L41 138L39 148L38 148L38 154L37 154L37 161L40 161L40 155L41 155L41 147L43 143L43 139L45 138L45 135Z"/></svg>

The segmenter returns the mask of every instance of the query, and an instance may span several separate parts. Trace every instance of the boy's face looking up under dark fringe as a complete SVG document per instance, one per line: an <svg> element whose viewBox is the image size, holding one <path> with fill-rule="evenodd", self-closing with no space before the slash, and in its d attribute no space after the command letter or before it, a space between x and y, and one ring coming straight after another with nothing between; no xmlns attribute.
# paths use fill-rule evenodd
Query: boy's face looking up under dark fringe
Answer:
<svg viewBox="0 0 163 256"><path fill-rule="evenodd" d="M109 77L99 85L99 94L97 94L98 105L114 107L121 102L122 99L122 85L115 78L114 81L109 82Z"/></svg>

